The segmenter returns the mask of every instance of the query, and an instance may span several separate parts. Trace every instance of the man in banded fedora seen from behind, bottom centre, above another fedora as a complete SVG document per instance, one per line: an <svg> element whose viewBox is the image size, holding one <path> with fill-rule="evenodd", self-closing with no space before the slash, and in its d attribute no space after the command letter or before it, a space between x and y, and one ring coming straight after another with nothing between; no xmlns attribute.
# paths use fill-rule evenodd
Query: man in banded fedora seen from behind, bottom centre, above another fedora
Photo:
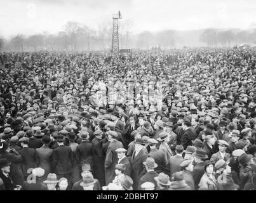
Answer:
<svg viewBox="0 0 256 203"><path fill-rule="evenodd" d="M151 182L155 184L155 188L157 186L156 180L154 180L155 177L158 177L158 173L154 171L156 167L158 167L158 164L154 161L152 157L147 157L145 162L143 164L146 167L147 173L144 174L138 181L138 190L142 190L141 185L145 182Z"/></svg>

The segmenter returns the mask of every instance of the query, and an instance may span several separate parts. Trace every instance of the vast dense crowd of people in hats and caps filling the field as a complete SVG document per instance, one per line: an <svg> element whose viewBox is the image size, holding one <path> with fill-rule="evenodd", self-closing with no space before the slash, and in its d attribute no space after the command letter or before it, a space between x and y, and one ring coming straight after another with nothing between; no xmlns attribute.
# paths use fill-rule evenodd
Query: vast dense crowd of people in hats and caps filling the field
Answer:
<svg viewBox="0 0 256 203"><path fill-rule="evenodd" d="M1 53L0 190L255 190L255 57Z"/></svg>

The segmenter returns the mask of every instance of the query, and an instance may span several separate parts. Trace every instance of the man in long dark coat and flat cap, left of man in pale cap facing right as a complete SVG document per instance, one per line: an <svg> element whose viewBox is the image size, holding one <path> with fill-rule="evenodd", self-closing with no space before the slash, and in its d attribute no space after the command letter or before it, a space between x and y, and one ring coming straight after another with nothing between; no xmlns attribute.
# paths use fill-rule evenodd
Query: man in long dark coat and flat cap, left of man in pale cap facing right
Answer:
<svg viewBox="0 0 256 203"><path fill-rule="evenodd" d="M105 173L104 173L104 160L102 157L102 145L100 145L100 141L102 140L102 136L104 132L101 130L96 130L94 133L95 138L91 141L91 155L93 158L93 166L94 166L94 176L100 181L100 186L105 185Z"/></svg>

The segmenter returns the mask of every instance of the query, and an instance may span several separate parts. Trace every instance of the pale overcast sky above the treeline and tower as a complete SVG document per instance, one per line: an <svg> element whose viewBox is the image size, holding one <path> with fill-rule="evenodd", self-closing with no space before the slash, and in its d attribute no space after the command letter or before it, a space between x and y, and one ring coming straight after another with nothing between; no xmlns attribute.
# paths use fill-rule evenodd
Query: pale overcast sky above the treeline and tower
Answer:
<svg viewBox="0 0 256 203"><path fill-rule="evenodd" d="M121 10L132 32L143 30L248 29L256 24L256 0L0 0L0 36L57 33L68 21L112 23Z"/></svg>

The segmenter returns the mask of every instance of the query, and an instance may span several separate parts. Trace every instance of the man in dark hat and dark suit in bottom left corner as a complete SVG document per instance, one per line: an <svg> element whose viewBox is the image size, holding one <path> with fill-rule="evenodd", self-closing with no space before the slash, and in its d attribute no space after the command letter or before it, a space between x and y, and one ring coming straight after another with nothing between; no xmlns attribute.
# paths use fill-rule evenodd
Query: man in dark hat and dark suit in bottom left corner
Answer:
<svg viewBox="0 0 256 203"><path fill-rule="evenodd" d="M9 175L10 165L11 163L8 162L7 159L0 159L0 180L3 181L5 190L14 190L15 188L15 185L13 184L13 181L11 180L11 177Z"/></svg>

